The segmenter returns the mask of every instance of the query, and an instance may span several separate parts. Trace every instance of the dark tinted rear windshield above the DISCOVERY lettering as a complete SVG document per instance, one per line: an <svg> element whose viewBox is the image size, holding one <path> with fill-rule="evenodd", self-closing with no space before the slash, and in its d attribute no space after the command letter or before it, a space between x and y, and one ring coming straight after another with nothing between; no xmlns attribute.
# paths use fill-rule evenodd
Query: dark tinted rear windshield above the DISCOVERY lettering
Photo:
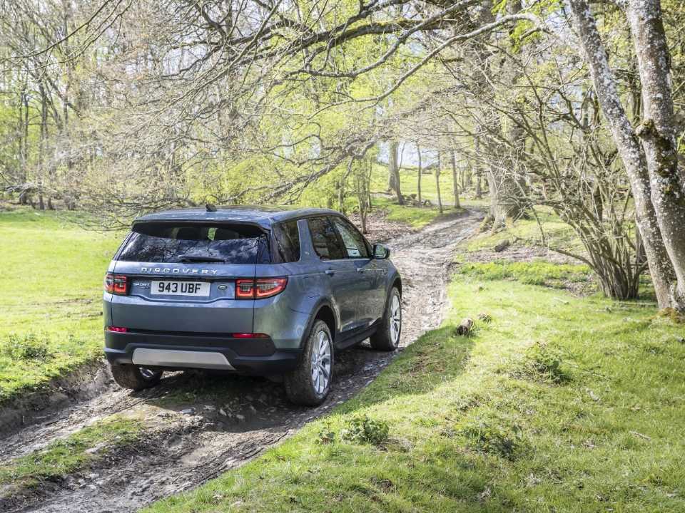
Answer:
<svg viewBox="0 0 685 513"><path fill-rule="evenodd" d="M249 224L139 223L121 247L122 261L268 263L265 234Z"/></svg>

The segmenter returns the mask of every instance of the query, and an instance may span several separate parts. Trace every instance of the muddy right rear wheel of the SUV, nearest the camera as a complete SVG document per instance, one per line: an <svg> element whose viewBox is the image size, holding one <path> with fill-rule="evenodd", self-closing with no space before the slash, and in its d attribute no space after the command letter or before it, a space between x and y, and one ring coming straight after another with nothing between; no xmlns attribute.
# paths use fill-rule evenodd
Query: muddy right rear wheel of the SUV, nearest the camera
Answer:
<svg viewBox="0 0 685 513"><path fill-rule="evenodd" d="M295 404L318 406L330 392L332 382L333 336L328 324L317 320L305 341L298 368L283 376L285 393Z"/></svg>

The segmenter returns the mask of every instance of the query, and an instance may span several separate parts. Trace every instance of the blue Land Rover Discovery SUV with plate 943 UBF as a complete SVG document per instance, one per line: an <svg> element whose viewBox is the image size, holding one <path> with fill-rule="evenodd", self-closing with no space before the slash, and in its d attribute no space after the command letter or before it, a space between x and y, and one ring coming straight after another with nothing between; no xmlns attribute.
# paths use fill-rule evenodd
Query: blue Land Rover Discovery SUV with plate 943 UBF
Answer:
<svg viewBox="0 0 685 513"><path fill-rule="evenodd" d="M328 209L213 207L139 217L109 264L105 354L116 382L201 368L283 378L318 405L335 351L393 351L402 281L390 250Z"/></svg>

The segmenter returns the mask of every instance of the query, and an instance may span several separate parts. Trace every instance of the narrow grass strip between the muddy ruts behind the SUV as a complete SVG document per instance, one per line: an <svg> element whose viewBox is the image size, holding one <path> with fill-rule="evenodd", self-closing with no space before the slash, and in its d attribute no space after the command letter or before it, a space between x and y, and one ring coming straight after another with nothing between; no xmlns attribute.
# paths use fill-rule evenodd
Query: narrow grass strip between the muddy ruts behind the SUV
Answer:
<svg viewBox="0 0 685 513"><path fill-rule="evenodd" d="M117 416L102 420L0 465L0 485L24 489L42 481L59 480L100 460L113 447L135 442L142 430L140 420Z"/></svg>

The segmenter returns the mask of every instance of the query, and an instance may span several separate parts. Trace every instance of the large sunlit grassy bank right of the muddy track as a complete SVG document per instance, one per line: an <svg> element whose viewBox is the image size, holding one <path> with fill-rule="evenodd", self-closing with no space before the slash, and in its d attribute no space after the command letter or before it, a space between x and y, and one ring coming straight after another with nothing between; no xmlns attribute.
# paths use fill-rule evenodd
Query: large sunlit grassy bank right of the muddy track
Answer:
<svg viewBox="0 0 685 513"><path fill-rule="evenodd" d="M146 511L685 510L682 326L493 277L457 276L444 326L331 415Z"/></svg>

